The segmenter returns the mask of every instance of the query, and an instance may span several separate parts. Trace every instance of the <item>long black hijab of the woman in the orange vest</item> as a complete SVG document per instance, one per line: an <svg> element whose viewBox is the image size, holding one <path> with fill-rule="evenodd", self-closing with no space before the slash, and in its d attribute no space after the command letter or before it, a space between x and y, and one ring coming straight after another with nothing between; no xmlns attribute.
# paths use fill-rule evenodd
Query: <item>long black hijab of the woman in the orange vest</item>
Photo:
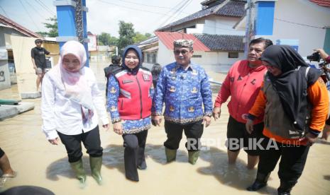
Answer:
<svg viewBox="0 0 330 195"><path fill-rule="evenodd" d="M306 69L309 66L289 45L271 45L265 49L260 60L282 71L280 76L268 72L273 88L280 96L282 107L296 129L304 131L307 117L307 87L314 84L321 71ZM299 67L300 66L300 67Z"/></svg>

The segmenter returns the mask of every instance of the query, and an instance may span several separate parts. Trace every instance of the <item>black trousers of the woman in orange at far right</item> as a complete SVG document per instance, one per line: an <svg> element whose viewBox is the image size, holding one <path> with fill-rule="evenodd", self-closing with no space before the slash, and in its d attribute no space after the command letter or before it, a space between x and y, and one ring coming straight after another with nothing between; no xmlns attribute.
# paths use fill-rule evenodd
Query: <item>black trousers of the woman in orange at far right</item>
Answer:
<svg viewBox="0 0 330 195"><path fill-rule="evenodd" d="M268 143L269 138L265 138L263 147L265 148ZM258 172L265 175L272 172L275 169L277 161L281 158L278 170L280 182L289 187L294 187L304 170L309 146L297 146L277 142L276 144L278 150L271 148L270 150L263 150L260 153Z"/></svg>

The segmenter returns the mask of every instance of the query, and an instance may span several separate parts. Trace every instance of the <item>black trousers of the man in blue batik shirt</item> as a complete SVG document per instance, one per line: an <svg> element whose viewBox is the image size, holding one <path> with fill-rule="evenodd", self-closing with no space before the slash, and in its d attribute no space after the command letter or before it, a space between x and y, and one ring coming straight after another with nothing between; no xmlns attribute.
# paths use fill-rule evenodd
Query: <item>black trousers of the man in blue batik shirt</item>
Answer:
<svg viewBox="0 0 330 195"><path fill-rule="evenodd" d="M204 126L202 120L189 124L175 124L165 120L165 132L167 140L164 146L171 150L177 150L182 138L182 131L185 131L187 142L185 144L187 150L199 150L201 147L200 138L202 137Z"/></svg>

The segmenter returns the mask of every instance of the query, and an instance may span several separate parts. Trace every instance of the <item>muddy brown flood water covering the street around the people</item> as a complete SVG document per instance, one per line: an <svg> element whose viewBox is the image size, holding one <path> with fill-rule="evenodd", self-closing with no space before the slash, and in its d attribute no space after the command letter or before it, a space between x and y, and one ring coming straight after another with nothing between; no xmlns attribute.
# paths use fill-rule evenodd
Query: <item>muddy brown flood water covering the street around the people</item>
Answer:
<svg viewBox="0 0 330 195"><path fill-rule="evenodd" d="M91 64L99 86L104 90L103 68L106 64ZM223 81L225 75L209 71L214 81ZM216 88L216 86L214 87ZM216 93L214 93L213 101ZM1 90L0 98L18 98L17 86ZM101 173L102 186L90 175L88 155L84 150L84 168L87 170L87 187L79 184L67 162L65 147L53 146L41 131L40 98L23 100L34 102L35 109L0 122L0 147L9 156L12 167L18 172L14 179L0 189L22 185L44 187L55 194L277 194L280 181L275 168L268 187L258 192L246 191L255 179L256 170L246 169L246 153L241 151L236 165L228 165L226 148L226 124L228 110L222 107L221 119L204 129L206 150L196 165L187 162L185 136L180 143L177 161L166 164L163 142L166 134L163 125L148 132L145 150L147 170L139 170L140 182L125 178L123 167L123 140L121 136L100 128L104 160ZM112 127L111 127L112 129ZM309 150L302 177L292 194L330 194L330 143L319 142Z"/></svg>

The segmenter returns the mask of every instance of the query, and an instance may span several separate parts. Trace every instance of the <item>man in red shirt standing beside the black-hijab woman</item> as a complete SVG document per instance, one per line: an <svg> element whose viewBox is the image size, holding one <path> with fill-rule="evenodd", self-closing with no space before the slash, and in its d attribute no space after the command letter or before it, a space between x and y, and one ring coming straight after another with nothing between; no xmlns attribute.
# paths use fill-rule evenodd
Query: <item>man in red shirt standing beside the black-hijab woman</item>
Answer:
<svg viewBox="0 0 330 195"><path fill-rule="evenodd" d="M230 116L226 142L229 164L236 162L238 153L243 146L248 153L247 167L249 170L253 169L259 160L259 150L253 147L253 143L258 142L258 138L262 137L263 117L255 119L255 131L253 134L248 134L245 126L246 116L255 102L267 70L259 57L270 45L273 45L273 42L262 37L251 40L248 59L236 61L231 66L224 83L221 85L212 113L214 120L218 119L221 114L221 105L231 96L228 104ZM255 138L256 140L253 141Z"/></svg>

